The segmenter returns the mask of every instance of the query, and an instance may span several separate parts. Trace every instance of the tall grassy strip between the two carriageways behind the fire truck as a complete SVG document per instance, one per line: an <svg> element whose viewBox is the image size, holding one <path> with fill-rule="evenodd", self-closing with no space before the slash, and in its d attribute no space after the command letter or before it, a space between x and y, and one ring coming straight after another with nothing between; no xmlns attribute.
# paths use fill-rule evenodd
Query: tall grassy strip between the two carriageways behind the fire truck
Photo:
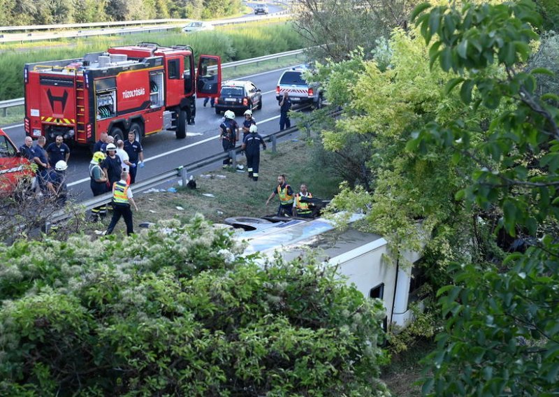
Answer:
<svg viewBox="0 0 559 397"><path fill-rule="evenodd" d="M0 45L0 101L20 98L23 96L23 66L26 63L48 61L53 59L71 59L85 55L87 52L106 50L110 46L151 41L160 45L189 44L194 48L195 55L212 54L222 57L222 62L238 61L261 57L275 52L296 50L303 47L300 36L296 34L289 22L263 24L231 25L218 28L215 31L201 31L194 34L184 34L181 31L157 34L134 34L129 36L99 36L94 38L79 38L72 41L57 41L35 43L35 48L28 48L22 52L17 45ZM55 44L55 45L53 45ZM266 71L281 66L289 66L298 62L295 58L282 59L261 63L249 69L227 70L224 77ZM8 109L6 117L1 117L0 125L22 122L23 108Z"/></svg>

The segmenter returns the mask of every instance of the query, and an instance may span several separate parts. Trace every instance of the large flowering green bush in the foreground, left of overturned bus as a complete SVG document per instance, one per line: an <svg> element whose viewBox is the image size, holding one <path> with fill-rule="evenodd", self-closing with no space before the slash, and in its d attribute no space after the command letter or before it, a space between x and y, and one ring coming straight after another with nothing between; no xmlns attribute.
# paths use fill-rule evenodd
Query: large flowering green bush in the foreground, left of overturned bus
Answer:
<svg viewBox="0 0 559 397"><path fill-rule="evenodd" d="M380 301L201 217L0 248L0 394L381 396Z"/></svg>

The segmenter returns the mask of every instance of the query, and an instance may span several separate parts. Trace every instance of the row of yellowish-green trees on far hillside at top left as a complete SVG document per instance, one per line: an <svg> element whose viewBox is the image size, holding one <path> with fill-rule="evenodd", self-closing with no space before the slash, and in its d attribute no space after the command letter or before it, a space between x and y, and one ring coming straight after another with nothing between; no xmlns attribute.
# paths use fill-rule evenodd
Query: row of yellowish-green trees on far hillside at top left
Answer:
<svg viewBox="0 0 559 397"><path fill-rule="evenodd" d="M241 0L0 0L0 26L219 18L241 8Z"/></svg>

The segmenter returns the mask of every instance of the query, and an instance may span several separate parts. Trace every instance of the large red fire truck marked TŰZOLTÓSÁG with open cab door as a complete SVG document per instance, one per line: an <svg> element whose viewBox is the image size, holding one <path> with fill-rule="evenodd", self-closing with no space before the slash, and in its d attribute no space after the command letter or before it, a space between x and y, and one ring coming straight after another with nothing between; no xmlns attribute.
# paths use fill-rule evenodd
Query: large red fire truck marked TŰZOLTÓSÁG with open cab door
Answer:
<svg viewBox="0 0 559 397"><path fill-rule="evenodd" d="M92 145L102 132L124 140L134 131L141 140L167 129L185 138L195 94L218 96L221 77L221 59L212 55L200 56L196 73L189 45L139 43L26 64L25 131L77 145Z"/></svg>

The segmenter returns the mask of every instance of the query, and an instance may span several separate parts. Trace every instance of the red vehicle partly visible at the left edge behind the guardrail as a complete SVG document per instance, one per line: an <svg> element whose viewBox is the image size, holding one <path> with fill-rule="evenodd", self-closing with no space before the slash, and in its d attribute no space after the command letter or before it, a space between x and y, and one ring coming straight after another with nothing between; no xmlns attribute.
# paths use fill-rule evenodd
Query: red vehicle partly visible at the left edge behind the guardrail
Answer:
<svg viewBox="0 0 559 397"><path fill-rule="evenodd" d="M0 196L9 196L22 180L30 181L33 176L29 160L0 129Z"/></svg>

